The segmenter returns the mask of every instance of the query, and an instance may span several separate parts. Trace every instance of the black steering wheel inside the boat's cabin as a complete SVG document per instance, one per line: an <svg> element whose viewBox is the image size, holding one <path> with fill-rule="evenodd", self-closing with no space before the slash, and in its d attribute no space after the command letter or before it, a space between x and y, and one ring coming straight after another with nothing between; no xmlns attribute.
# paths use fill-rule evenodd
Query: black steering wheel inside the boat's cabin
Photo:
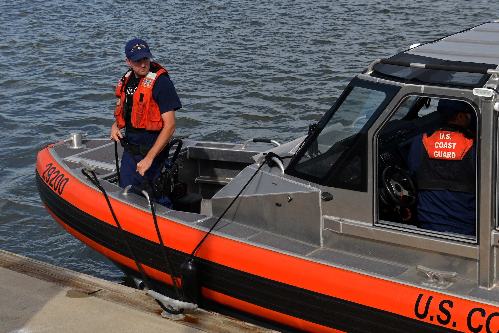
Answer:
<svg viewBox="0 0 499 333"><path fill-rule="evenodd" d="M417 202L418 190L406 170L398 166L388 166L383 170L383 187L386 193L401 207L412 207Z"/></svg>

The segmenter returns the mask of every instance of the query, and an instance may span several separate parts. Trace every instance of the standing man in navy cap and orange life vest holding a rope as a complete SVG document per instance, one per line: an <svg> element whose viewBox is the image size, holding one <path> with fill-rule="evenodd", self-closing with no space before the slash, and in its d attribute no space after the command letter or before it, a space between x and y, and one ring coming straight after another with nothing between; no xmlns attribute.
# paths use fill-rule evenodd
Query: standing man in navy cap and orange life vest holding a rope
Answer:
<svg viewBox="0 0 499 333"><path fill-rule="evenodd" d="M139 163L136 165L128 152L123 152L120 185L143 187L145 174L153 187L170 169L168 152L163 150L175 131L175 111L182 108L182 104L166 69L150 61L152 53L145 41L130 40L125 46L125 55L131 68L118 81L115 90L119 100L114 110L116 121L111 126L111 140L123 138L121 129L125 128L128 146ZM155 202L172 209L167 195L152 189L150 192Z"/></svg>

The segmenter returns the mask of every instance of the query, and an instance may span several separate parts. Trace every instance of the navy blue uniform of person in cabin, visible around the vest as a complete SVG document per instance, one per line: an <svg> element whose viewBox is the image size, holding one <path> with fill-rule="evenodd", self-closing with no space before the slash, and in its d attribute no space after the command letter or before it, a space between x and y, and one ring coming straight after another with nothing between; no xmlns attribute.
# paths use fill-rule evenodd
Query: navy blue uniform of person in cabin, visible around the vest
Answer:
<svg viewBox="0 0 499 333"><path fill-rule="evenodd" d="M423 135L412 142L409 150L409 172L416 176L421 163ZM473 159L477 165L476 145L473 144ZM416 179L417 180L417 179ZM476 200L475 194L451 190L419 190L418 215L423 229L450 231L465 235L475 235Z"/></svg>

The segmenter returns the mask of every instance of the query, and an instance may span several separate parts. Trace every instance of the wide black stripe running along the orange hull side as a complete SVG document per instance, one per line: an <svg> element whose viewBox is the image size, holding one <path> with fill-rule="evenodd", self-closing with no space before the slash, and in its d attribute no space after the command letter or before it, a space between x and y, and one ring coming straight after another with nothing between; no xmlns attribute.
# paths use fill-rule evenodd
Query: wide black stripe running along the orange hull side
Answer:
<svg viewBox="0 0 499 333"><path fill-rule="evenodd" d="M64 200L45 183L38 171L36 171L36 186L47 208L62 222L101 246L127 258L131 257L127 253L125 243L120 240L121 235L117 227L93 217ZM127 237L140 263L167 273L159 243L129 232L127 232ZM179 277L180 265L188 254L169 247L166 247L166 251L172 261L175 276ZM196 260L201 270L202 286L205 288L343 332L457 332L446 327L266 279L202 258Z"/></svg>

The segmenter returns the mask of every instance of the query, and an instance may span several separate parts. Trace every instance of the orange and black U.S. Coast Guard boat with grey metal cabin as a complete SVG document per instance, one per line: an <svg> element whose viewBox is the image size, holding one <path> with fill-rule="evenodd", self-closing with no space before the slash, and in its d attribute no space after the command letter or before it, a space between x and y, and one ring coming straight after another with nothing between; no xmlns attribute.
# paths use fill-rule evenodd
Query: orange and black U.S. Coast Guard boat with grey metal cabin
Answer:
<svg viewBox="0 0 499 333"><path fill-rule="evenodd" d="M137 262L155 288L172 273L182 289L181 265L230 206L194 256L205 300L306 332L498 332L498 65L488 22L374 61L302 138L177 139L178 183L203 201L154 204L157 230L148 193L116 185L109 139L75 131L45 147L37 188L62 227L139 286ZM439 124L440 99L476 113L474 236L423 229L399 199L417 197L408 152Z"/></svg>

